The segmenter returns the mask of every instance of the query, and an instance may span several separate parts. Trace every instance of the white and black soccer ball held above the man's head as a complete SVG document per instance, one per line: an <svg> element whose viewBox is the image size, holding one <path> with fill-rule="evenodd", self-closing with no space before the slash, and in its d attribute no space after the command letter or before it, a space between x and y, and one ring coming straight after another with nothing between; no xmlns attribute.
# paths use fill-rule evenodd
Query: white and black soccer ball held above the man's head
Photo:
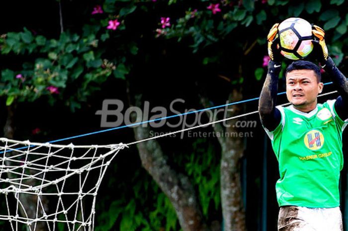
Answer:
<svg viewBox="0 0 348 231"><path fill-rule="evenodd" d="M302 18L288 18L278 26L280 53L285 58L299 60L313 50L312 26Z"/></svg>

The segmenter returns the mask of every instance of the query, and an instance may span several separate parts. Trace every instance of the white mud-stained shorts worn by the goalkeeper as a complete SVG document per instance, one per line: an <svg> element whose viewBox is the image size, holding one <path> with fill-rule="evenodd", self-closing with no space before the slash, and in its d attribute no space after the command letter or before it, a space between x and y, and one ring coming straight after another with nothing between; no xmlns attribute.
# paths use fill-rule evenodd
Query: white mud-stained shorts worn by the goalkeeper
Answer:
<svg viewBox="0 0 348 231"><path fill-rule="evenodd" d="M306 208L282 206L278 231L343 231L340 207Z"/></svg>

